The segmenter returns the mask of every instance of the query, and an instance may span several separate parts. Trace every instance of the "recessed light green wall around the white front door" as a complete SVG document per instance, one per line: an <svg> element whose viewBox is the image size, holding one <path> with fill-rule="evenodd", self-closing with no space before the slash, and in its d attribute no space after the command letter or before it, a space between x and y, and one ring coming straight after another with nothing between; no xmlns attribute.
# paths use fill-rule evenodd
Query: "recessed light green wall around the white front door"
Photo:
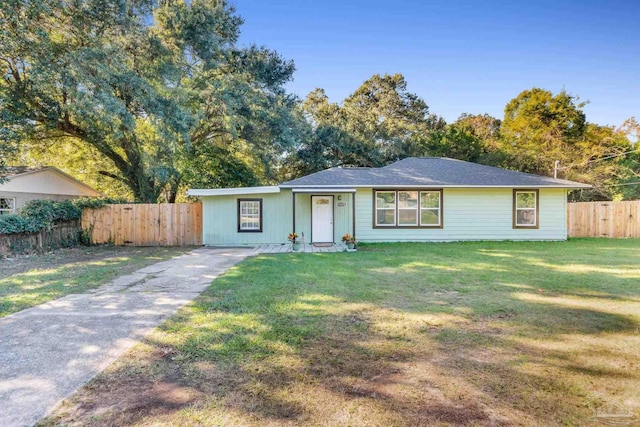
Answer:
<svg viewBox="0 0 640 427"><path fill-rule="evenodd" d="M311 234L311 196L333 196L333 241L339 242L346 233L353 234L353 203L351 193L296 193L296 232L306 243L313 242ZM340 200L338 200L340 198ZM344 205L344 206L342 206Z"/></svg>

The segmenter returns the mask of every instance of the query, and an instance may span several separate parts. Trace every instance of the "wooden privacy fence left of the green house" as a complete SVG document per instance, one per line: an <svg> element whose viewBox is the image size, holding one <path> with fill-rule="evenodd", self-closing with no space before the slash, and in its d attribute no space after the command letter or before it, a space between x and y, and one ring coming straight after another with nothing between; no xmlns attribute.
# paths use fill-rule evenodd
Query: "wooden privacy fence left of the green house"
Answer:
<svg viewBox="0 0 640 427"><path fill-rule="evenodd" d="M131 246L202 245L202 203L107 205L85 209L92 243Z"/></svg>

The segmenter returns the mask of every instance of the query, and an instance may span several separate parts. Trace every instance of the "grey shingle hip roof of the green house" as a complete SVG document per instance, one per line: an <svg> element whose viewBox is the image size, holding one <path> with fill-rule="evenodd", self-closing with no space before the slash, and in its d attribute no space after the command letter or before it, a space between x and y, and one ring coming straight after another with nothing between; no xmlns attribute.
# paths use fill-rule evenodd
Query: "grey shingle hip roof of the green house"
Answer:
<svg viewBox="0 0 640 427"><path fill-rule="evenodd" d="M280 184L293 187L556 187L588 184L510 171L462 160L409 157L381 168L331 168Z"/></svg>

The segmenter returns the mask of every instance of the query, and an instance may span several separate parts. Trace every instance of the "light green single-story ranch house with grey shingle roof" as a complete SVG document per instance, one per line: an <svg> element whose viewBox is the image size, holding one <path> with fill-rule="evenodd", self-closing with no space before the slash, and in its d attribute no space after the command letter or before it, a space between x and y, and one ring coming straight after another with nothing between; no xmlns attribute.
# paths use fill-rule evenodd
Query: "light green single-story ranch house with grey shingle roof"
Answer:
<svg viewBox="0 0 640 427"><path fill-rule="evenodd" d="M332 168L278 186L192 189L205 245L565 240L567 193L590 185L447 158Z"/></svg>

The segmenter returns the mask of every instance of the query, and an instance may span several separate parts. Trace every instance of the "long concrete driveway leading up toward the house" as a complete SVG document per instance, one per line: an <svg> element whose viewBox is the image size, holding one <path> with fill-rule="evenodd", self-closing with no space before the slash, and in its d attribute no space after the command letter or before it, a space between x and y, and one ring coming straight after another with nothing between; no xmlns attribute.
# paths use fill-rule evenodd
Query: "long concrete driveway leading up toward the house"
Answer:
<svg viewBox="0 0 640 427"><path fill-rule="evenodd" d="M0 319L0 426L32 426L247 249L196 249Z"/></svg>

